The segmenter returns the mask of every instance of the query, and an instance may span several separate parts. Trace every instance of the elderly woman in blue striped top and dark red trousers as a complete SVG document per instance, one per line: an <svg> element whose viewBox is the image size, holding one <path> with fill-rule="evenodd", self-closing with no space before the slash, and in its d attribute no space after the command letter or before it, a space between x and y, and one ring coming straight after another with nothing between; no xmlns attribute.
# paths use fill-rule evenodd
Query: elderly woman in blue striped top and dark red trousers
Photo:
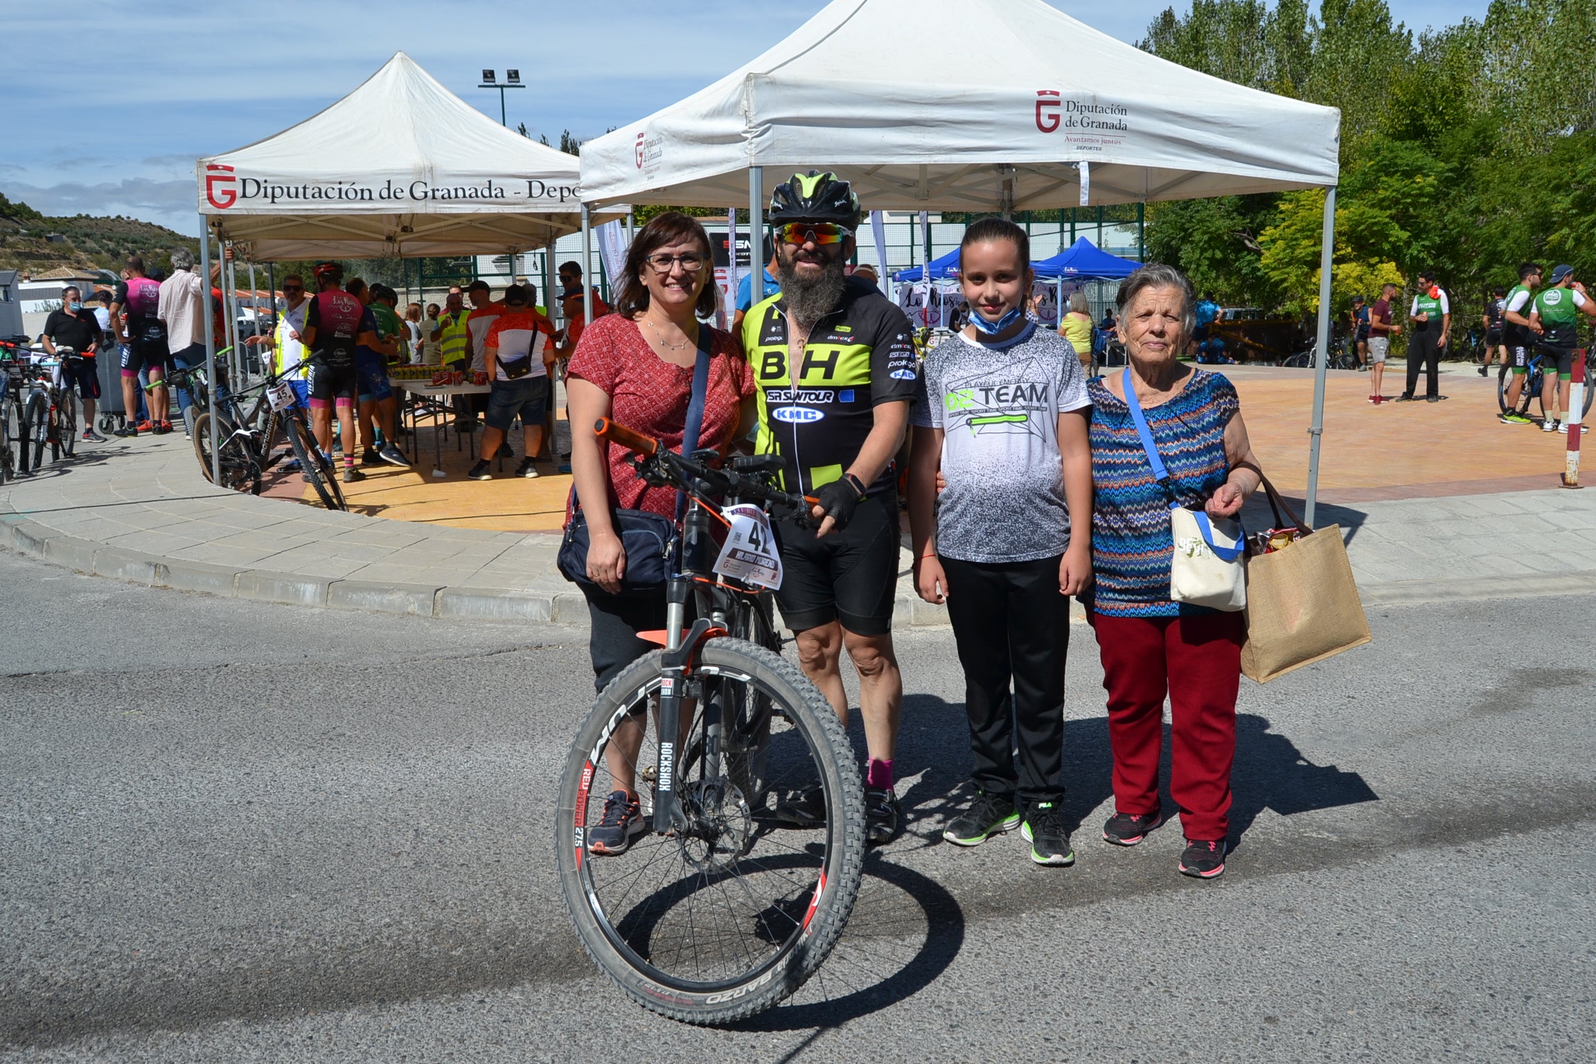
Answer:
<svg viewBox="0 0 1596 1064"><path fill-rule="evenodd" d="M1224 871L1235 694L1245 627L1170 598L1170 493L1210 517L1234 517L1259 485L1235 388L1181 364L1195 317L1191 284L1149 263L1119 290L1119 335L1128 365L1092 381L1092 568L1088 619L1103 656L1108 727L1114 750L1114 815L1103 839L1135 845L1162 823L1159 758L1163 699L1170 699L1170 793L1186 852L1179 871L1211 879ZM1152 477L1125 389L1146 416L1168 491Z"/></svg>

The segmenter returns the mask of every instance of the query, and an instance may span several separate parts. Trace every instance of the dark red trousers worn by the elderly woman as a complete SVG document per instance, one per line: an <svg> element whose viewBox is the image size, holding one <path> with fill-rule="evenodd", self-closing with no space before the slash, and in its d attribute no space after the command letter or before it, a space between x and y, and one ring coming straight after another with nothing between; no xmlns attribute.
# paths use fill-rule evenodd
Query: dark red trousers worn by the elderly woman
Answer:
<svg viewBox="0 0 1596 1064"><path fill-rule="evenodd" d="M1187 839L1229 833L1231 763L1235 761L1235 692L1242 683L1240 613L1192 617L1092 614L1108 691L1114 750L1114 810L1159 809L1163 697L1170 699L1170 794Z"/></svg>

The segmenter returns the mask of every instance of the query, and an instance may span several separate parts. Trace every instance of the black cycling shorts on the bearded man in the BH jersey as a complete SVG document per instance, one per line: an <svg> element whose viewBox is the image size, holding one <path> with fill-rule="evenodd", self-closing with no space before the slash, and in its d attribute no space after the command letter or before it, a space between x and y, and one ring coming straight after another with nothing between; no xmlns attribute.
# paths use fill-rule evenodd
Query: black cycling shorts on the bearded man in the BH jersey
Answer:
<svg viewBox="0 0 1596 1064"><path fill-rule="evenodd" d="M854 635L892 630L897 598L897 493L884 491L859 504L847 528L816 539L812 528L790 518L776 522L782 544L782 587L776 605L793 632L833 621Z"/></svg>

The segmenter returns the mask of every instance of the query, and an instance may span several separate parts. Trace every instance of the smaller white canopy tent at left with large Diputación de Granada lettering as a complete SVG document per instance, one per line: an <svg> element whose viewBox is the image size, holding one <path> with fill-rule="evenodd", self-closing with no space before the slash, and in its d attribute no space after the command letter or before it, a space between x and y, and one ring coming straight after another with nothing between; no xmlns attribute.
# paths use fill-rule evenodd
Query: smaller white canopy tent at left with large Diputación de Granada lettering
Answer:
<svg viewBox="0 0 1596 1064"><path fill-rule="evenodd" d="M575 156L511 132L402 51L321 113L203 158L195 175L206 274L212 236L252 262L516 255L552 249L589 214ZM212 375L214 359L206 330Z"/></svg>

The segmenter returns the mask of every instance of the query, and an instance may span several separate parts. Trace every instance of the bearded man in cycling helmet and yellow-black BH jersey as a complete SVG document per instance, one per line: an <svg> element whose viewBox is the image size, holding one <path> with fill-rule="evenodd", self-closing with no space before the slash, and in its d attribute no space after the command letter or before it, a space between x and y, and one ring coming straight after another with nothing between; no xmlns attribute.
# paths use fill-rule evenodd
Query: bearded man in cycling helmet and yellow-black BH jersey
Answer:
<svg viewBox="0 0 1596 1064"><path fill-rule="evenodd" d="M776 600L804 675L847 723L838 660L859 672L865 721L867 837L899 828L892 753L903 678L892 652L899 507L892 456L918 376L910 324L881 290L844 274L859 196L835 174L793 174L771 196L777 295L742 321L760 412L755 450L782 456L782 487L814 496L819 528L776 522L784 579ZM825 822L819 783L777 806L788 823Z"/></svg>

